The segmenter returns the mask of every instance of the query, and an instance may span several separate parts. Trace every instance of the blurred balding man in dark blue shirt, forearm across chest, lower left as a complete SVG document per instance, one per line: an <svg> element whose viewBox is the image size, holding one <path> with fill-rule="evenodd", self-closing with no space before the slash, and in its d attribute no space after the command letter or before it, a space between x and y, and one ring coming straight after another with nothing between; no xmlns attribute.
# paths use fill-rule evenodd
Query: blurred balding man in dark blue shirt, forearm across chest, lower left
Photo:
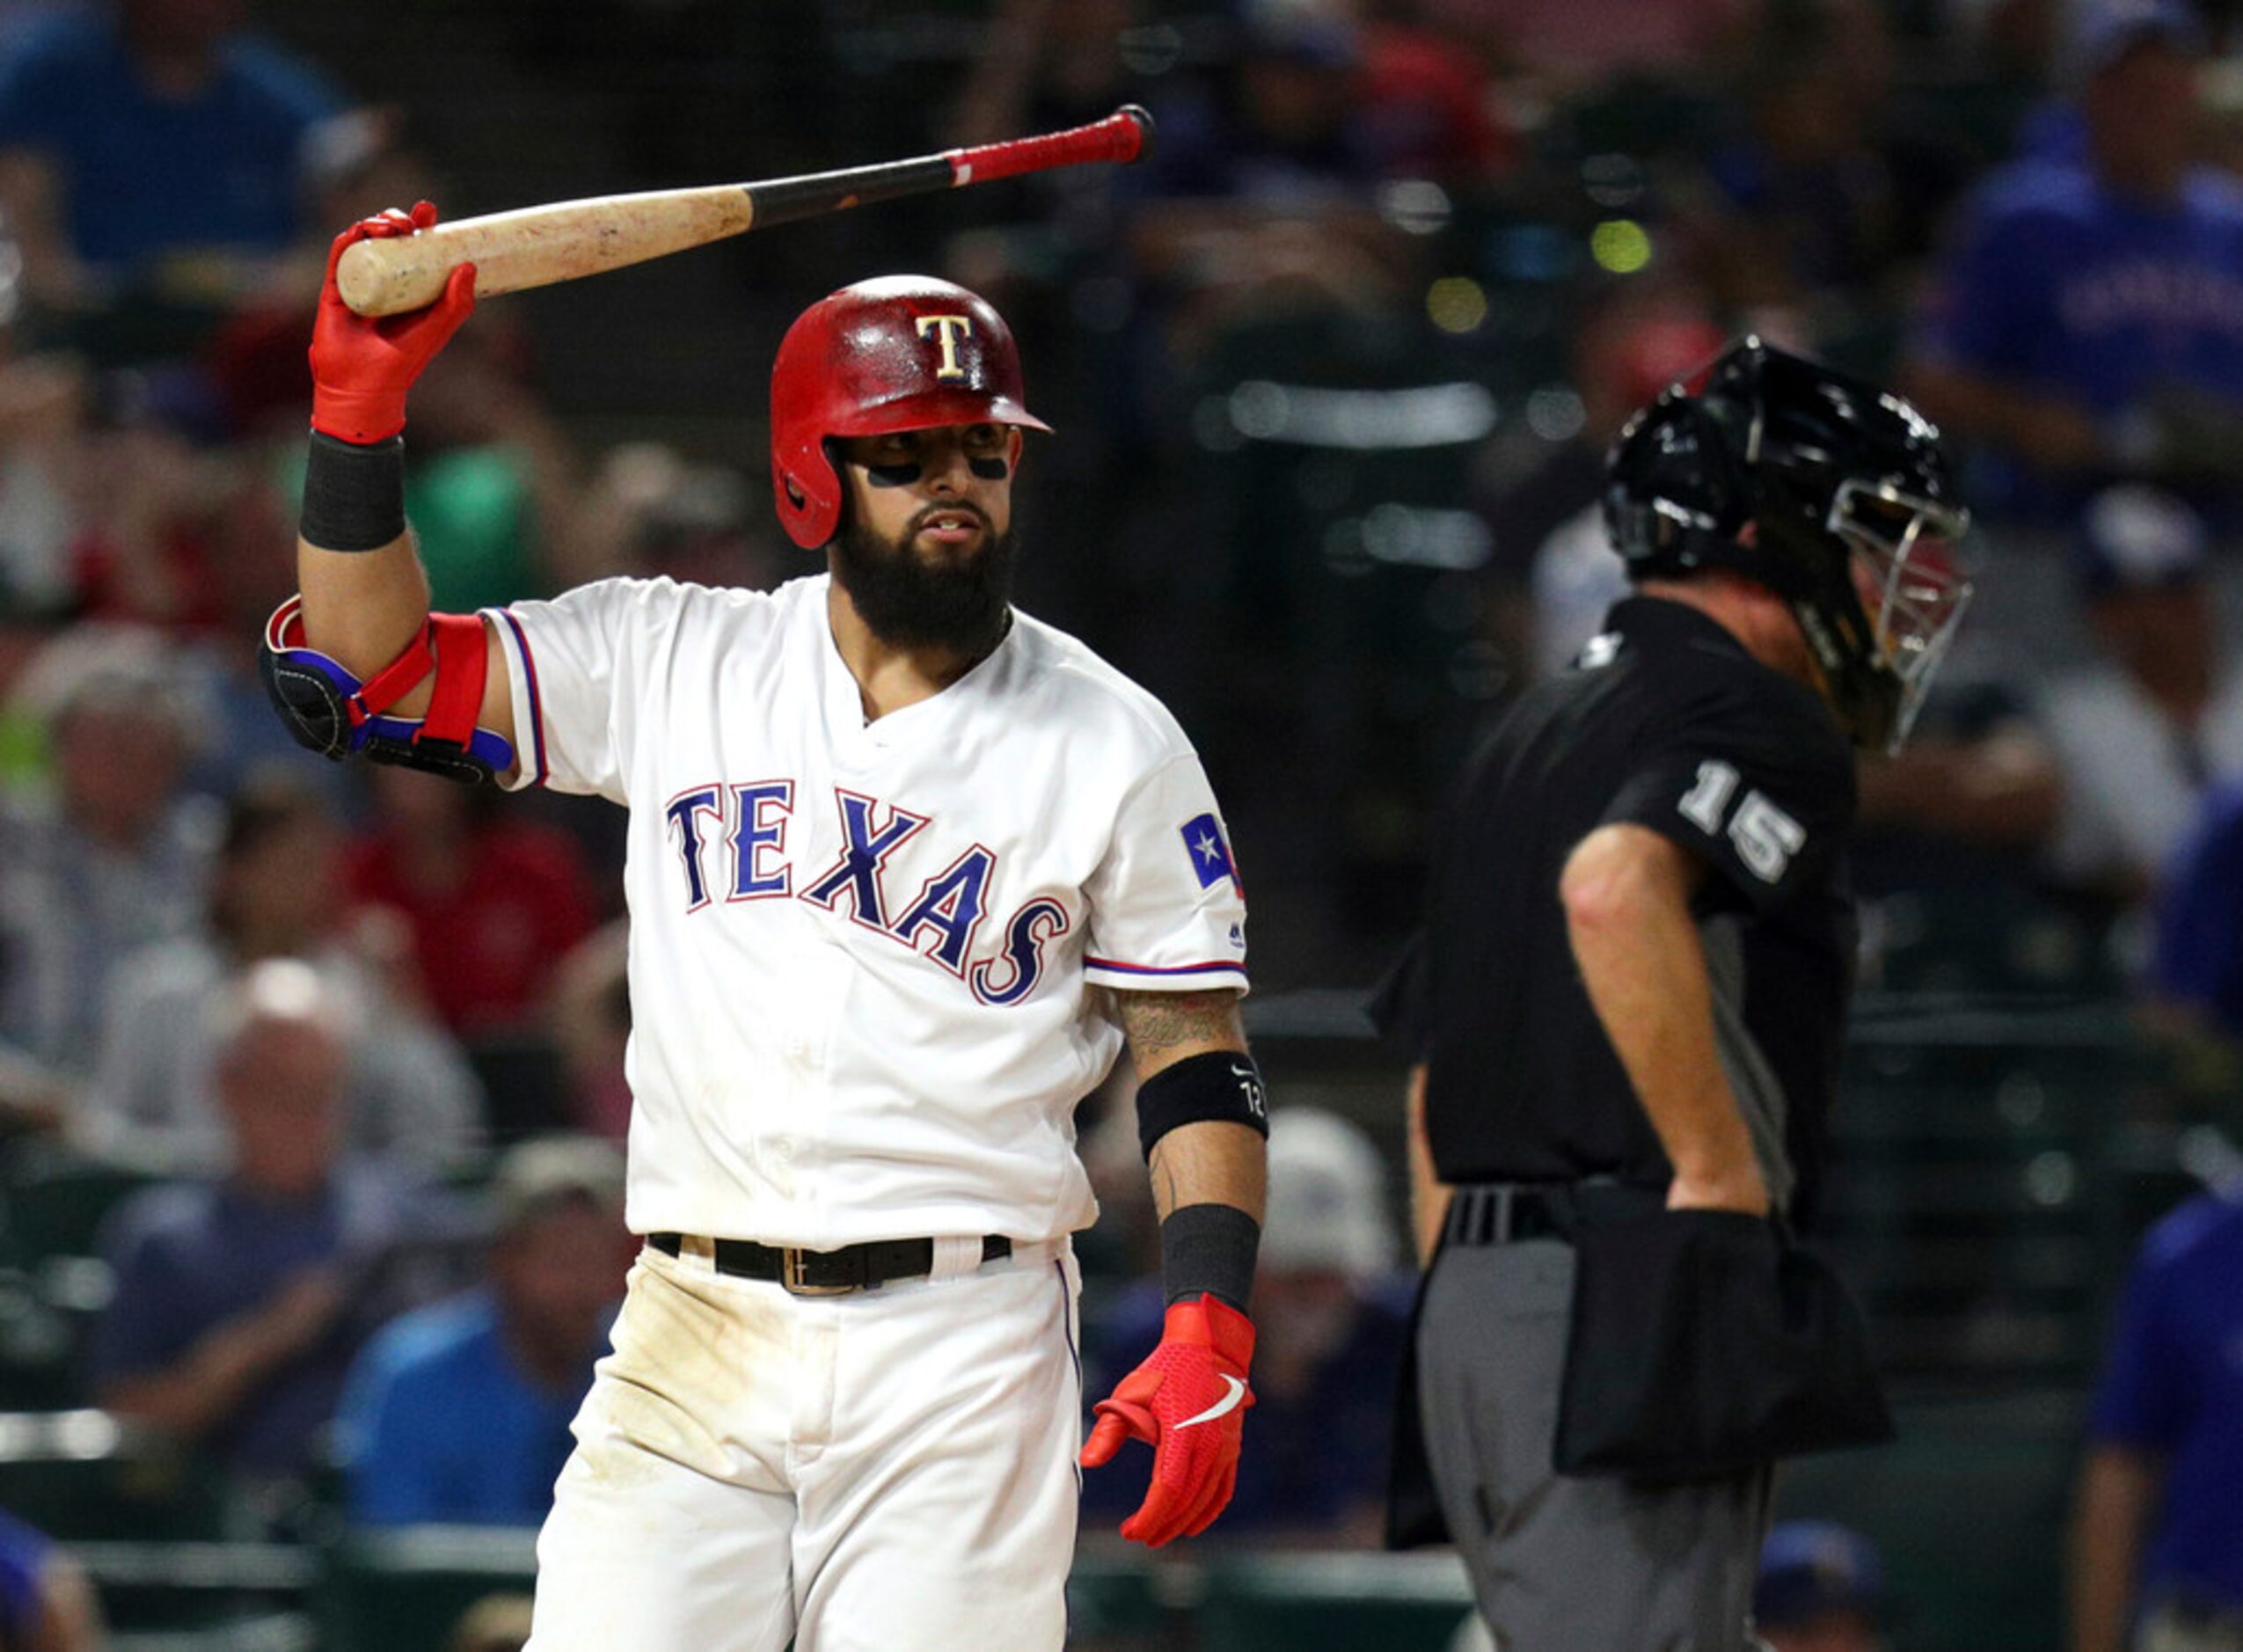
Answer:
<svg viewBox="0 0 2243 1652"><path fill-rule="evenodd" d="M94 1392L253 1490L316 1466L352 1356L384 1320L458 1288L462 1232L390 1165L339 1158L339 1006L310 965L253 965L215 1015L233 1165L117 1214Z"/></svg>

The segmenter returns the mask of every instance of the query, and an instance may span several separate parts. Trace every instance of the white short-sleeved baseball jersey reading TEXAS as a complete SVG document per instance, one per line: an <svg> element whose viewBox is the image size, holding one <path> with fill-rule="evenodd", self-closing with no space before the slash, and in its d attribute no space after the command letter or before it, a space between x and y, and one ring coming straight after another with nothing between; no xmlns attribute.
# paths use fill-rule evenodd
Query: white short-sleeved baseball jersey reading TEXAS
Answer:
<svg viewBox="0 0 2243 1652"><path fill-rule="evenodd" d="M828 579L606 579L487 611L520 783L630 808L637 1232L830 1250L1097 1217L1090 985L1245 990L1245 900L1175 718L1014 615L866 723Z"/></svg>

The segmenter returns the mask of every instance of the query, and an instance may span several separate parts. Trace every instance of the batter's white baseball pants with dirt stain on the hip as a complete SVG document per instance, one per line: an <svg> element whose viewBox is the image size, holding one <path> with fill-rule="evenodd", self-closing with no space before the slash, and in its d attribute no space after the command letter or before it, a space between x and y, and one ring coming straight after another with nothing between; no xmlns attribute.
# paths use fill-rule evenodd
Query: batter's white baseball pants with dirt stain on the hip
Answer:
<svg viewBox="0 0 2243 1652"><path fill-rule="evenodd" d="M693 1250L630 1270L538 1535L529 1652L1056 1652L1065 1241L978 1268L978 1241L940 1241L933 1279L841 1297Z"/></svg>

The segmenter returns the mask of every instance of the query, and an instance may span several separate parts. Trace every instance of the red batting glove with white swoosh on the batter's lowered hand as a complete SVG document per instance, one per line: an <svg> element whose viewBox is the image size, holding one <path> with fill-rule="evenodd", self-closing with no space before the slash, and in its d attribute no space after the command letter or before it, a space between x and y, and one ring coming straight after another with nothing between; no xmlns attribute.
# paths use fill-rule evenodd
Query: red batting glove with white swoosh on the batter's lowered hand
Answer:
<svg viewBox="0 0 2243 1652"><path fill-rule="evenodd" d="M1160 1549L1198 1538L1238 1486L1238 1441L1254 1392L1254 1322L1225 1302L1169 1304L1160 1347L1097 1403L1097 1428L1083 1446L1083 1468L1113 1461L1124 1439L1153 1448L1153 1486L1144 1506L1122 1522L1122 1535Z"/></svg>

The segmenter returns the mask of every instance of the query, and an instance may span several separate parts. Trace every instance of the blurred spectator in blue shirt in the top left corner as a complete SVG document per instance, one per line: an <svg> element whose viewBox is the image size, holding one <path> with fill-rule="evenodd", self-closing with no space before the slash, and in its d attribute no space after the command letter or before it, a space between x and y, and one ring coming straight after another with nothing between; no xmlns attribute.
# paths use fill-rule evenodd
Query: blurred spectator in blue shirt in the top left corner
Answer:
<svg viewBox="0 0 2243 1652"><path fill-rule="evenodd" d="M114 0L25 29L0 61L0 206L56 310L224 278L283 254L314 135L343 99L242 34L238 0ZM229 274L231 272L231 274Z"/></svg>

